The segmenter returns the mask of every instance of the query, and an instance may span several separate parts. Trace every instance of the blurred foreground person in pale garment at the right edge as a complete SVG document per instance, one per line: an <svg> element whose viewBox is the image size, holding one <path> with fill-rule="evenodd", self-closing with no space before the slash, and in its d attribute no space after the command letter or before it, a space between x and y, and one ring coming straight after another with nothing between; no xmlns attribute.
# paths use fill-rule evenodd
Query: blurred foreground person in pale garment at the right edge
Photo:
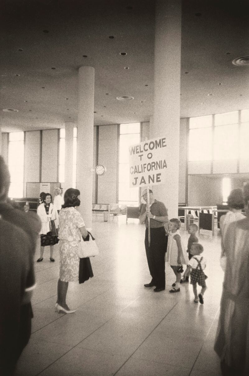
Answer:
<svg viewBox="0 0 249 376"><path fill-rule="evenodd" d="M229 224L223 238L226 269L214 350L223 375L249 374L249 183L246 217Z"/></svg>

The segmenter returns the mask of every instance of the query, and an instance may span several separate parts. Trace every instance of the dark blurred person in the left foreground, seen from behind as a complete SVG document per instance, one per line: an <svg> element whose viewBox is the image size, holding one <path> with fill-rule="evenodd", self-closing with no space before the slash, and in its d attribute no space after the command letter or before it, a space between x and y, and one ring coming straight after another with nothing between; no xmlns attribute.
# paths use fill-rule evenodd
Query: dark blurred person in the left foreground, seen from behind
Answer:
<svg viewBox="0 0 249 376"><path fill-rule="evenodd" d="M33 256L40 220L7 202L10 174L0 156L0 374L13 373L31 334Z"/></svg>

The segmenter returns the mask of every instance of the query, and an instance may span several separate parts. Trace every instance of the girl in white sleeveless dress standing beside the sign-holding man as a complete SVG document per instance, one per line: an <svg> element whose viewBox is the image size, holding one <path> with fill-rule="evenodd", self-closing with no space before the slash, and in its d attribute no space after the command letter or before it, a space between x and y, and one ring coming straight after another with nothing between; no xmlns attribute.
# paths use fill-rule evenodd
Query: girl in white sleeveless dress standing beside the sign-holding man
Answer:
<svg viewBox="0 0 249 376"><path fill-rule="evenodd" d="M178 293L180 291L181 273L183 272L182 265L187 264L187 253L183 251L183 244L179 233L180 227L181 221L178 218L172 218L169 221L166 261L168 261L176 276L176 281L172 284L173 288L169 290L170 293Z"/></svg>

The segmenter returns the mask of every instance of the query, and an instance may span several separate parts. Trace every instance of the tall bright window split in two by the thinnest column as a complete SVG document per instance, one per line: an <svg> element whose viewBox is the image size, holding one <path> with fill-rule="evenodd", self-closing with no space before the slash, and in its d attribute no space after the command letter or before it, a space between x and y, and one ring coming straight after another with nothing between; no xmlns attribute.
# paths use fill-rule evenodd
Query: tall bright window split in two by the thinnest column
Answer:
<svg viewBox="0 0 249 376"><path fill-rule="evenodd" d="M72 188L76 188L77 127L74 127ZM65 182L65 128L60 129L59 145L59 182Z"/></svg>

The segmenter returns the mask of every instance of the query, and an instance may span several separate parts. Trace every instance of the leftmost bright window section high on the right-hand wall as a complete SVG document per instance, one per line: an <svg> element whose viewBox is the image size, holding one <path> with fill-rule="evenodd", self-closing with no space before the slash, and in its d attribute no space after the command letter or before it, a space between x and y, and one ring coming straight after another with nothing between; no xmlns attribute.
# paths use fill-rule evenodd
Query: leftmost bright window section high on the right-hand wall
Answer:
<svg viewBox="0 0 249 376"><path fill-rule="evenodd" d="M212 116L189 119L189 161L212 159Z"/></svg>

